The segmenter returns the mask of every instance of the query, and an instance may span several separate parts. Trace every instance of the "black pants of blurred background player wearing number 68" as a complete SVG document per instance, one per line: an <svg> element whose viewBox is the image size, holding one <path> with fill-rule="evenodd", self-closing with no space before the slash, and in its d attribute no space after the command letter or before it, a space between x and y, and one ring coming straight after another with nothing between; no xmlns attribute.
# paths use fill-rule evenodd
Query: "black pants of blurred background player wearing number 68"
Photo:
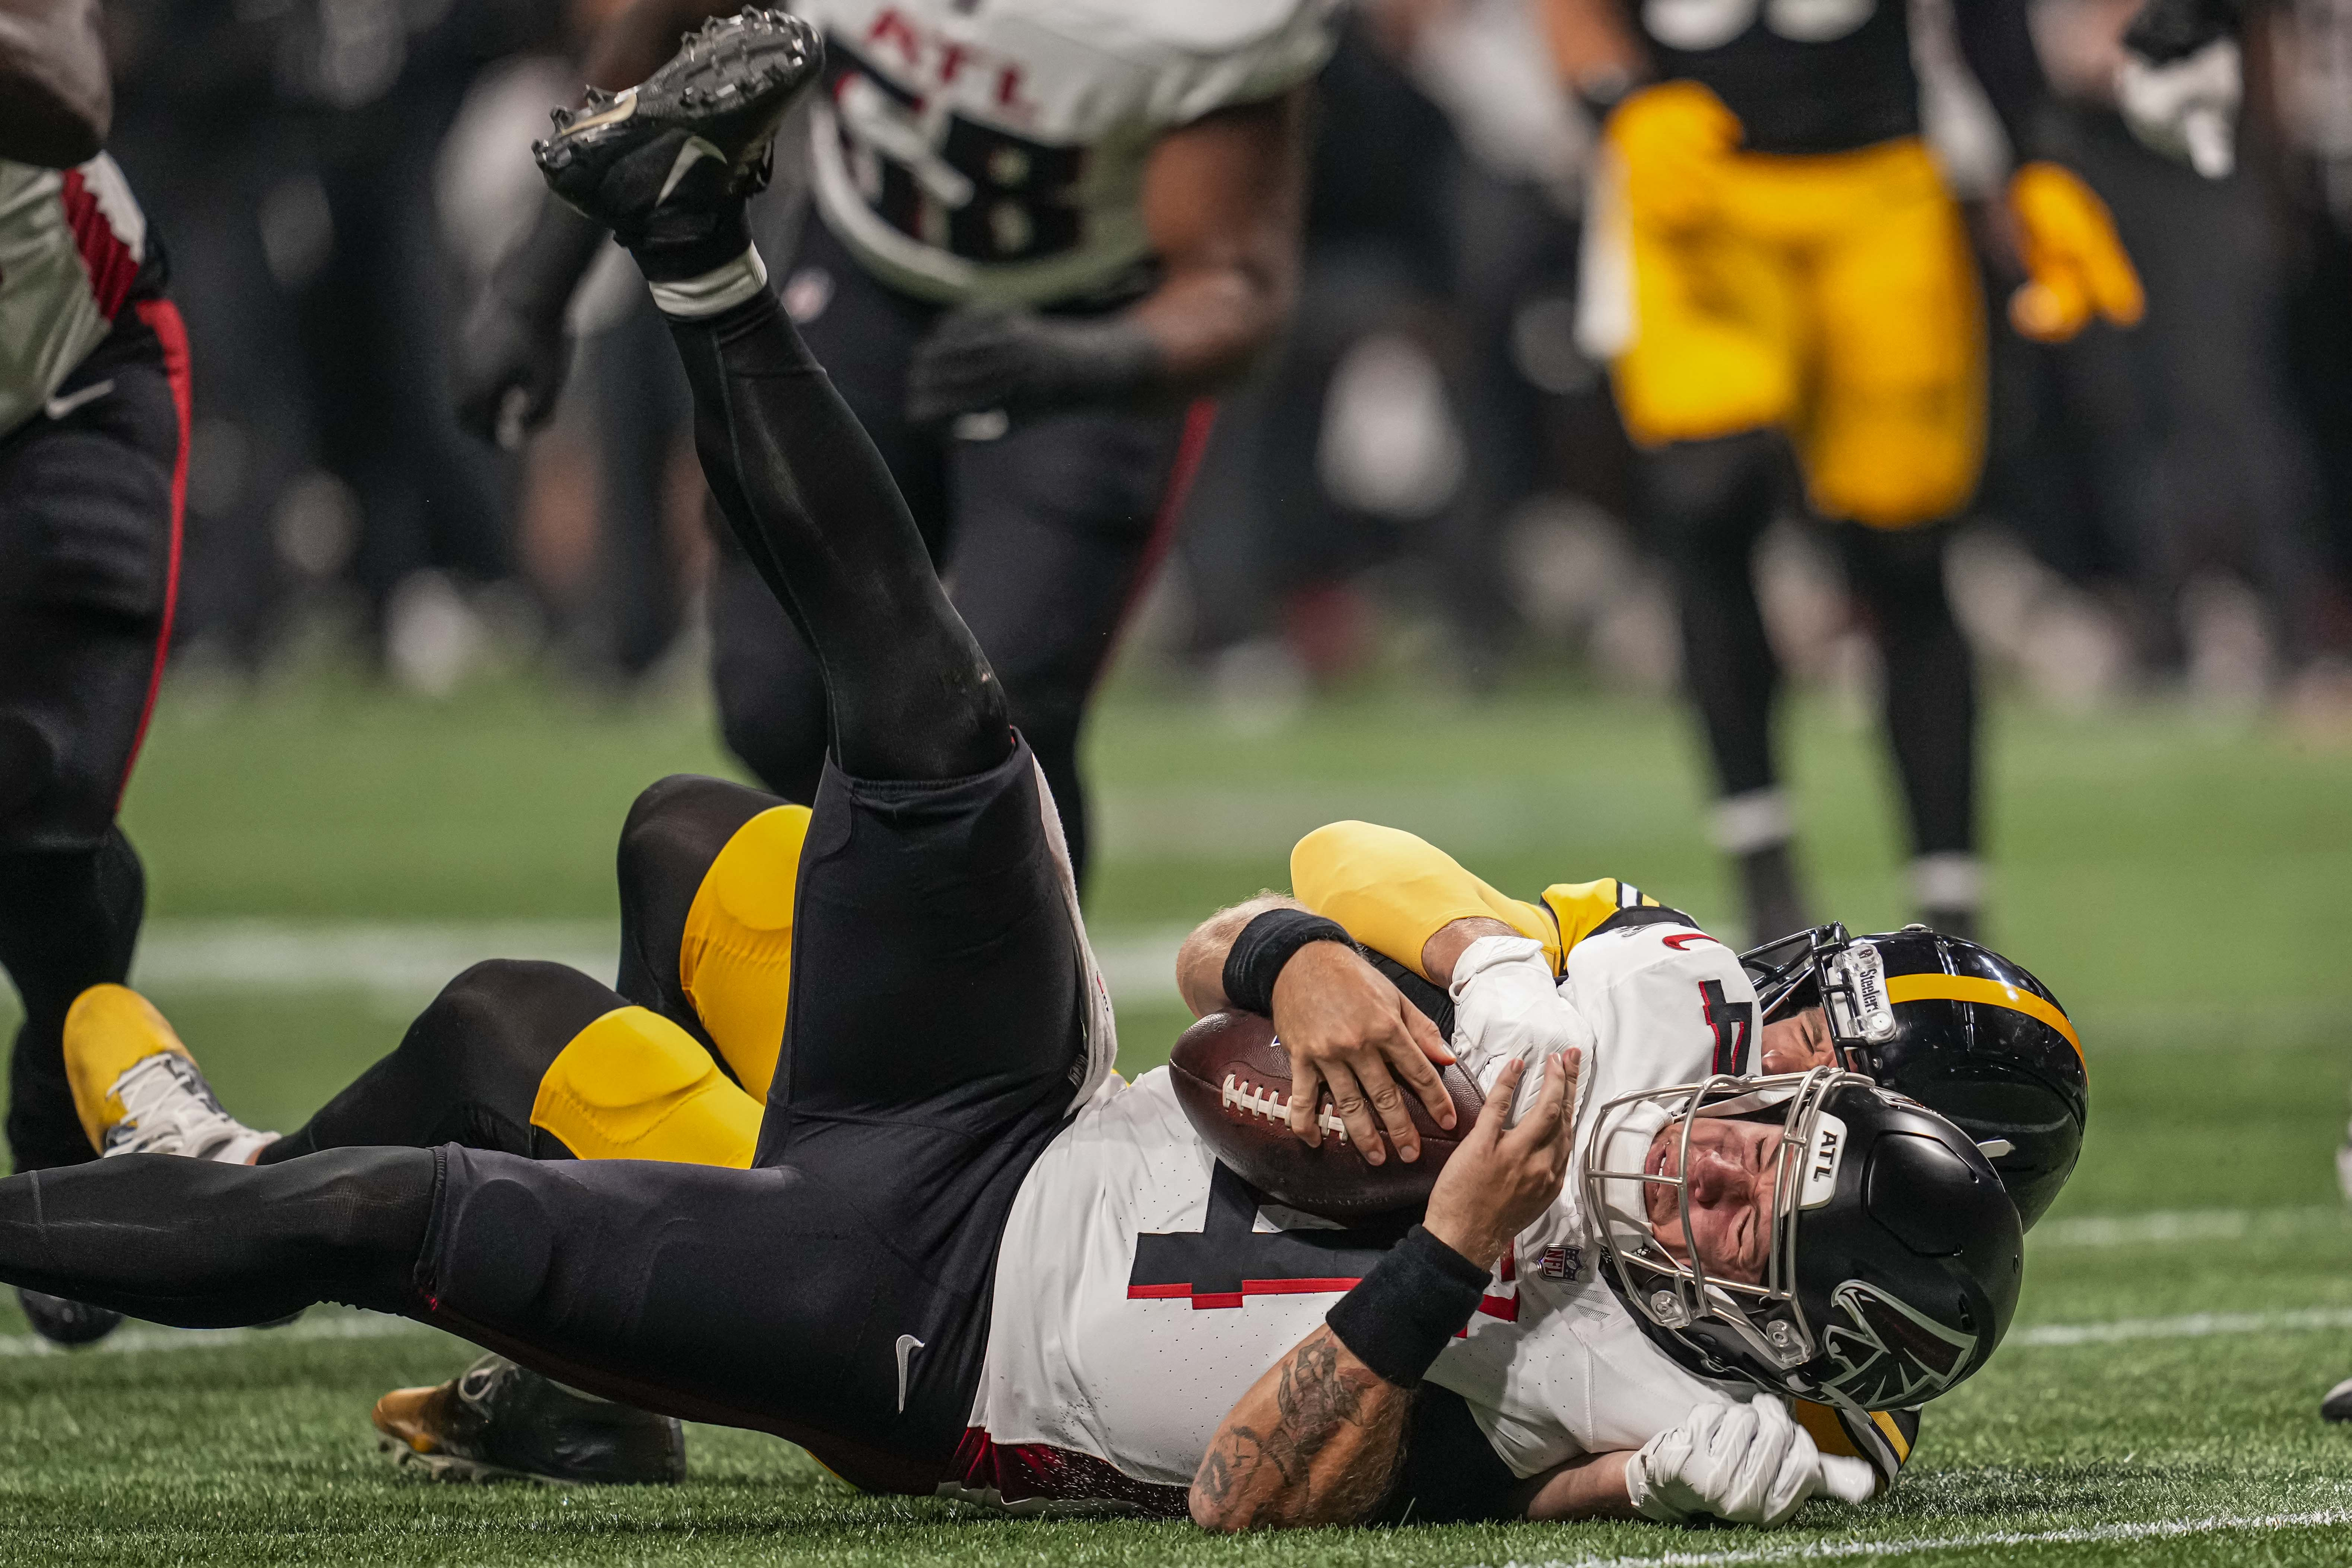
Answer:
<svg viewBox="0 0 2352 1568"><path fill-rule="evenodd" d="M875 282L814 219L786 277L809 350L873 437L955 609L1004 682L1084 875L1080 724L1120 621L1174 534L1209 404L1178 414L1073 409L995 440L953 440L906 418L908 360L938 306ZM724 529L710 632L729 750L769 790L811 799L826 757L823 686L807 644Z"/></svg>

